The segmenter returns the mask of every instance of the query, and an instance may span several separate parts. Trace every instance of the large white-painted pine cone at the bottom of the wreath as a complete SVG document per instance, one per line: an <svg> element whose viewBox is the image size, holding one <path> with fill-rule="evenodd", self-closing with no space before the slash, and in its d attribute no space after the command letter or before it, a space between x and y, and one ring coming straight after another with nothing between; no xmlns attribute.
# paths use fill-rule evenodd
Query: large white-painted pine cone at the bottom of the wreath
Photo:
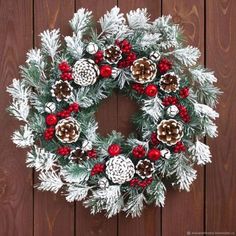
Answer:
<svg viewBox="0 0 236 236"><path fill-rule="evenodd" d="M134 164L129 158L115 156L106 162L106 175L115 184L130 181L135 173Z"/></svg>

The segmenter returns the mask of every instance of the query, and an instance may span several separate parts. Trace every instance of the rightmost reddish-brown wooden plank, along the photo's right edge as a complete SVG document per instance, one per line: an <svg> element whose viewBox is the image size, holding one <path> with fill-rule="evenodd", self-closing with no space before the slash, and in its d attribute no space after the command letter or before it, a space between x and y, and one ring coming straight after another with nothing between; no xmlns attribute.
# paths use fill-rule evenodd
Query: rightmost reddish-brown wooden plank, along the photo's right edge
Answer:
<svg viewBox="0 0 236 236"><path fill-rule="evenodd" d="M206 64L223 90L219 138L209 142L213 163L206 169L206 231L236 233L236 2L206 1Z"/></svg>

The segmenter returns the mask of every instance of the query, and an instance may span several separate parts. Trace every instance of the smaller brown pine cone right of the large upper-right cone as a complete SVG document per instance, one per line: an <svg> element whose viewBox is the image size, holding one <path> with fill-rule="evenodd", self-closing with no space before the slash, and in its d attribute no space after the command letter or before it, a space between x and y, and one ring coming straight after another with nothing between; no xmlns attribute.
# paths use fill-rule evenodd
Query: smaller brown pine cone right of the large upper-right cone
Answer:
<svg viewBox="0 0 236 236"><path fill-rule="evenodd" d="M175 73L168 73L161 76L160 88L166 93L175 92L179 89L180 78Z"/></svg>

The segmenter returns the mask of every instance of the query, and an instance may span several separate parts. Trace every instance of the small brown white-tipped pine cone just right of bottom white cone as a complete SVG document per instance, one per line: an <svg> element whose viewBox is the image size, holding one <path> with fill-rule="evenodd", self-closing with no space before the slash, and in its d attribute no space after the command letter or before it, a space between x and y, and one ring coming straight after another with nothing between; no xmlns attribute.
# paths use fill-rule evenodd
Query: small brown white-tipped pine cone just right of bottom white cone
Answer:
<svg viewBox="0 0 236 236"><path fill-rule="evenodd" d="M142 179L152 177L154 170L154 164L148 159L140 160L136 165L136 173Z"/></svg>

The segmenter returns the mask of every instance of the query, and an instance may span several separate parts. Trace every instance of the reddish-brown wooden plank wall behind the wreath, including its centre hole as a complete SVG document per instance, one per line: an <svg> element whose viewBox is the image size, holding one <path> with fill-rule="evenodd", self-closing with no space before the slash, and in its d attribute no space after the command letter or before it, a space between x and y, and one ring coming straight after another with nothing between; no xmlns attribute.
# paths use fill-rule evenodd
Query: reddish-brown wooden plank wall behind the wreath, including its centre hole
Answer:
<svg viewBox="0 0 236 236"><path fill-rule="evenodd" d="M5 112L5 87L19 77L27 49L38 46L46 28L67 24L76 9L93 10L96 18L114 5L122 11L146 7L152 17L173 15L189 43L200 48L201 62L216 71L224 91L218 111L219 137L208 141L213 163L198 168L191 192L170 189L164 208L147 207L142 217L123 214L107 220L91 216L80 204L32 188L35 176L25 167L25 151L10 141L17 122ZM235 0L0 0L0 236L182 236L236 234L236 1ZM136 106L114 95L98 112L100 131L128 134ZM206 234L207 235L207 234Z"/></svg>

